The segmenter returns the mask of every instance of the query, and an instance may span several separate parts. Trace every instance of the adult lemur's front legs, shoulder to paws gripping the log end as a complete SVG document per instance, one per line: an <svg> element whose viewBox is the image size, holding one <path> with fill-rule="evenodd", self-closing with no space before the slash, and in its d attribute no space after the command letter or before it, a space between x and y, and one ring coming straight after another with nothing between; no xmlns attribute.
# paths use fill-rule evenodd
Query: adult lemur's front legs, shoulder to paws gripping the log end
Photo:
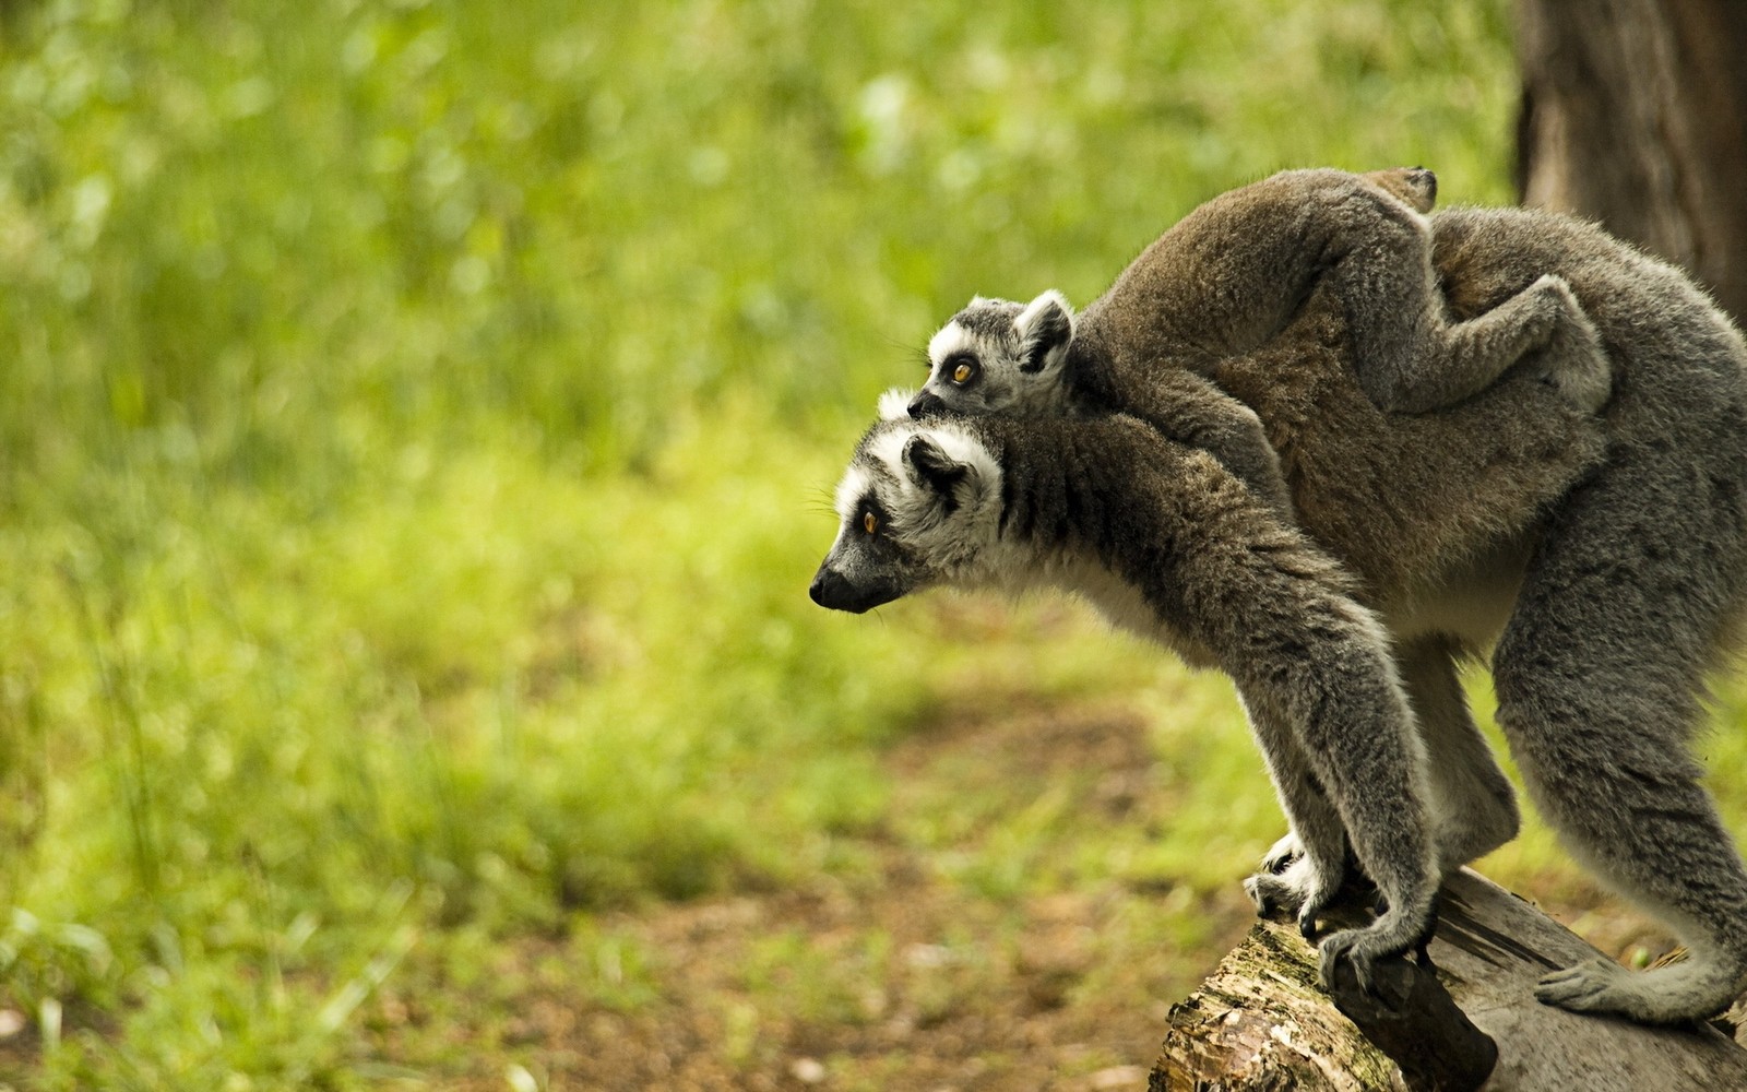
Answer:
<svg viewBox="0 0 1747 1092"><path fill-rule="evenodd" d="M1389 634L1352 596L1340 563L1254 494L1184 477L1190 467L1172 467L1169 477L1153 470L1160 480L1144 465L1125 468L1106 508L1108 533L1150 549L1113 557L1123 580L1144 591L1169 639L1232 676L1275 771L1309 863L1284 889L1268 881L1254 888L1265 896L1302 893L1300 914L1307 903L1315 909L1342 872L1338 819L1387 910L1322 940L1322 978L1331 984L1335 964L1352 959L1370 985L1377 961L1431 935L1440 879L1426 753ZM1158 535L1146 505L1122 503L1132 496L1169 498L1170 526L1183 535Z"/></svg>

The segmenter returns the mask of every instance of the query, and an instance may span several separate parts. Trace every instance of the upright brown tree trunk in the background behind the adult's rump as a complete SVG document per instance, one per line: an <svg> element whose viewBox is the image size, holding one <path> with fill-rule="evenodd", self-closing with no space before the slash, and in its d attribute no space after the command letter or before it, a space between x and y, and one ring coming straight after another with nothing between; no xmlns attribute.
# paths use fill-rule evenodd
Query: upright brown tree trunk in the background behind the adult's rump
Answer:
<svg viewBox="0 0 1747 1092"><path fill-rule="evenodd" d="M1747 318L1747 3L1518 0L1523 204L1600 220Z"/></svg>

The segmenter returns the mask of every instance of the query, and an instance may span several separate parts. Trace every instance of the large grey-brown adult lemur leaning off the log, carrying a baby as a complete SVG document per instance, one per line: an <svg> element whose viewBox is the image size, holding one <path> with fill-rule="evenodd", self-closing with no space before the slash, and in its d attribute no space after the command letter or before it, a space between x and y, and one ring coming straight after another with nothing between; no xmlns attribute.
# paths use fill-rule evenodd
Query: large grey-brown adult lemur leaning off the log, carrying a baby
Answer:
<svg viewBox="0 0 1747 1092"><path fill-rule="evenodd" d="M1747 344L1682 274L1592 225L1459 210L1433 229L1457 320L1569 281L1607 351L1602 414L1536 369L1385 414L1324 283L1274 342L1209 365L1279 451L1296 528L1125 414L896 418L851 461L812 598L1053 584L1232 674L1300 853L1251 891L1314 926L1350 842L1387 900L1322 942L1326 975L1412 947L1440 875L1515 833L1454 667L1492 646L1543 812L1691 950L1555 971L1537 996L1709 1015L1747 985L1747 870L1686 741L1747 613Z"/></svg>

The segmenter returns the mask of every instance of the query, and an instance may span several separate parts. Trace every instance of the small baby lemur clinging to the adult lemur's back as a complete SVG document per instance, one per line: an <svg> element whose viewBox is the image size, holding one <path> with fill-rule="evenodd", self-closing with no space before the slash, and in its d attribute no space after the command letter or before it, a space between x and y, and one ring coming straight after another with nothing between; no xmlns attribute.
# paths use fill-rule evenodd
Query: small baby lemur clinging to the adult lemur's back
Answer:
<svg viewBox="0 0 1747 1092"><path fill-rule="evenodd" d="M1122 409L1284 505L1260 423L1205 377L1274 339L1319 283L1340 299L1359 386L1382 409L1452 405L1525 356L1572 402L1599 407L1607 362L1562 278L1541 276L1466 321L1445 316L1426 217L1436 192L1424 168L1302 169L1214 197L1078 321L1059 292L973 299L929 341L910 412Z"/></svg>

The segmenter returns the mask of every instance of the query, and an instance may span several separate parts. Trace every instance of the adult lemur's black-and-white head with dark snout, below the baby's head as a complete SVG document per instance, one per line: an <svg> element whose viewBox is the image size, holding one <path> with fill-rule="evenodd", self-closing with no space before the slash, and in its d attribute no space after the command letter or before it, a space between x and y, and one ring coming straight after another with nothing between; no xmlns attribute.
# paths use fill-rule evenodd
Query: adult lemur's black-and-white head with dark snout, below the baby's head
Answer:
<svg viewBox="0 0 1747 1092"><path fill-rule="evenodd" d="M931 584L975 582L1001 522L1001 465L970 421L905 416L880 398L837 486L837 542L812 577L819 606L861 613Z"/></svg>

